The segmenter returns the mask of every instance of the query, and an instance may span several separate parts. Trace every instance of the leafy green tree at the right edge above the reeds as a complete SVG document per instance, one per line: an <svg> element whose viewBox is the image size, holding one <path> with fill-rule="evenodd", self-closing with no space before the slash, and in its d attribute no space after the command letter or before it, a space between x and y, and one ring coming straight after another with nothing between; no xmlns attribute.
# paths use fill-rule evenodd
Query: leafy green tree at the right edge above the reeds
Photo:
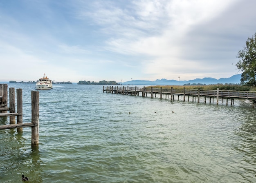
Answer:
<svg viewBox="0 0 256 183"><path fill-rule="evenodd" d="M256 33L248 38L246 46L238 51L236 67L242 71L241 84L256 87Z"/></svg>

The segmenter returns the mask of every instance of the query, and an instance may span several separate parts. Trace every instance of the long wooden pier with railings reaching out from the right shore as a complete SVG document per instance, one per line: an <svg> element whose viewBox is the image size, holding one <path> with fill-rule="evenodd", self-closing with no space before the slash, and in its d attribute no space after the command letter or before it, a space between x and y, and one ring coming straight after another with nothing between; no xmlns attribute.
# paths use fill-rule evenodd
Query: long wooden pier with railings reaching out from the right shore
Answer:
<svg viewBox="0 0 256 183"><path fill-rule="evenodd" d="M223 99L226 100L226 105L228 105L228 100L230 100L230 104L234 104L235 99L247 99L251 100L254 104L256 101L256 92L248 92L248 91L231 91L231 90L207 90L207 89L163 89L161 88L148 88L148 87L118 87L118 86L103 86L103 92L112 93L112 94L123 94L123 95L134 95L134 96L150 96L153 98L171 98L171 100L182 100L185 102L186 97L187 101L189 98L192 98L192 101L197 100L200 102L200 98L203 98L204 103L206 103L206 98L209 98L209 103L213 103L213 99L216 98L216 104L218 105L219 99L221 98L221 102L223 103ZM254 105L253 105L254 107Z"/></svg>

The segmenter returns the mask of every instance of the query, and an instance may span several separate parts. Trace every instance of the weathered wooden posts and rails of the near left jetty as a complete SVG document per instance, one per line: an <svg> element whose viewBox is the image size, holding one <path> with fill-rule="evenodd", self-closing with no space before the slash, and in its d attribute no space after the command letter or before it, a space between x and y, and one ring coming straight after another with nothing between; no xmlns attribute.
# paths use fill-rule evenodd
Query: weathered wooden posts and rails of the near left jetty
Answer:
<svg viewBox="0 0 256 183"><path fill-rule="evenodd" d="M9 117L10 125L0 125L0 129L17 128L17 132L22 132L23 127L31 127L31 147L39 145L39 92L31 92L31 123L22 123L22 89L17 89L17 112L15 109L15 89L9 88L8 107L8 86L0 84L0 117ZM8 112L9 111L9 112ZM17 123L16 123L17 116Z"/></svg>

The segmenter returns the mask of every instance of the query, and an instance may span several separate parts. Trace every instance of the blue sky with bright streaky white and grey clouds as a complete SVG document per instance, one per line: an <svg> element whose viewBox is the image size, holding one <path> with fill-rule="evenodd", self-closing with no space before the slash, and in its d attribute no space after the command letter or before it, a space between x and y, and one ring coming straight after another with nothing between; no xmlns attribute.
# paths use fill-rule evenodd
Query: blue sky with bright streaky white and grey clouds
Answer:
<svg viewBox="0 0 256 183"><path fill-rule="evenodd" d="M255 0L0 0L0 81L229 78Z"/></svg>

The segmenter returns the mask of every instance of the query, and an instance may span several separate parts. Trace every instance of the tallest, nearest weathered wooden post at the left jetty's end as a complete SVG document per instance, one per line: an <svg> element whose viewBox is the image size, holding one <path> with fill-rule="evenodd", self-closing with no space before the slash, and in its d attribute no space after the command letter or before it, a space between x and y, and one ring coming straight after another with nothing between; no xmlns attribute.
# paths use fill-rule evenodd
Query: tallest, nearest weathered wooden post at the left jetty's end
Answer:
<svg viewBox="0 0 256 183"><path fill-rule="evenodd" d="M31 127L31 147L37 147L39 145L39 92L31 92L31 122L37 124L37 126Z"/></svg>

